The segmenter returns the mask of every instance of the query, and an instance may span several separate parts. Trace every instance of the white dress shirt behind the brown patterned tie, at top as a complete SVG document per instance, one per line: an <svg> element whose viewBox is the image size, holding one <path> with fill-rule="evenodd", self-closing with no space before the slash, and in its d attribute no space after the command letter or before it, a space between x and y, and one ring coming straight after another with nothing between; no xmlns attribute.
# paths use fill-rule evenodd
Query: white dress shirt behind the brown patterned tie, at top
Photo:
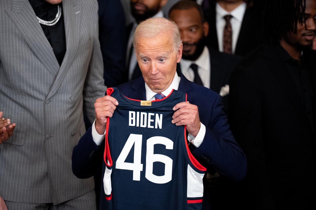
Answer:
<svg viewBox="0 0 316 210"><path fill-rule="evenodd" d="M245 12L245 2L241 3L236 9L234 9L231 12L227 12L219 5L219 3L216 3L216 31L218 40L218 50L220 52L223 52L223 34L224 28L226 26L226 20L224 19L224 16L228 14L233 16L230 19L230 24L232 25L232 53L234 54Z"/></svg>

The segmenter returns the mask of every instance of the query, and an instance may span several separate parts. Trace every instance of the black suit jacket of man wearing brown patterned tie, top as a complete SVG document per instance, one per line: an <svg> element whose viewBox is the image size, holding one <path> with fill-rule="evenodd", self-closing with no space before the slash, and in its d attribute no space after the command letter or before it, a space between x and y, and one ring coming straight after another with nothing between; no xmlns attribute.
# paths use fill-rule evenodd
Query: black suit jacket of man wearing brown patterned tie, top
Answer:
<svg viewBox="0 0 316 210"><path fill-rule="evenodd" d="M205 20L210 24L207 37L208 45L218 50L215 4L211 4L210 9L204 12ZM246 9L236 44L236 55L245 56L263 43L262 16L262 9L259 7Z"/></svg>

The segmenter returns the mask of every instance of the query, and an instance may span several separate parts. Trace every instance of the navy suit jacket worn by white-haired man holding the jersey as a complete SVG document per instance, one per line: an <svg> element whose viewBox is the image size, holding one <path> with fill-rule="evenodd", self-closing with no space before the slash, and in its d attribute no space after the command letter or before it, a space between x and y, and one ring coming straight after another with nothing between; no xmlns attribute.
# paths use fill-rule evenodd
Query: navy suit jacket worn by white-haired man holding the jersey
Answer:
<svg viewBox="0 0 316 210"><path fill-rule="evenodd" d="M118 88L128 98L146 100L143 77L119 85ZM222 111L221 96L188 81L182 74L179 90L187 93L187 101L198 106L200 121L206 127L202 144L192 153L200 158L200 162L203 160L230 179L236 181L243 179L247 171L246 157L229 130L226 115ZM92 139L90 127L73 150L72 170L78 178L84 179L93 175L95 168L103 160L104 150L99 148L101 146L95 145ZM102 201L105 202L102 193L100 199L100 207L102 207L104 205ZM204 199L207 201L207 197L204 196Z"/></svg>

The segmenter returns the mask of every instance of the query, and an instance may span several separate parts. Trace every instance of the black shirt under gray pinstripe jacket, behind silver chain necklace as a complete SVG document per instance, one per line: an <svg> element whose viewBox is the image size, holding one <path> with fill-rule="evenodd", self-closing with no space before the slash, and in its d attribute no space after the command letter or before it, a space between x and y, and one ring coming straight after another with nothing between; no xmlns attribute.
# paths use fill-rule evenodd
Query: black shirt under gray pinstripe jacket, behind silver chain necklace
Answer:
<svg viewBox="0 0 316 210"><path fill-rule="evenodd" d="M55 4L50 4L44 0L29 0L32 8L37 17L42 20L51 21L54 20L58 12L58 7ZM62 3L58 4L62 9ZM46 26L40 24L44 34L51 44L56 59L59 65L63 62L66 53L66 35L64 26L64 14L62 11L59 21L53 26Z"/></svg>

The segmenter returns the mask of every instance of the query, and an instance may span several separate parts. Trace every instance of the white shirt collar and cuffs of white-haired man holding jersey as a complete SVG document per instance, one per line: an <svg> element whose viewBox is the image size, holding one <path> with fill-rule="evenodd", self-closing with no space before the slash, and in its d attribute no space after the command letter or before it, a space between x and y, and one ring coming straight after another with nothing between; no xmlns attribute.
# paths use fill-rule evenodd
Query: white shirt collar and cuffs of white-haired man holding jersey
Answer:
<svg viewBox="0 0 316 210"><path fill-rule="evenodd" d="M165 90L161 93L164 94L165 96L167 96L171 93L172 89L178 90L179 82L180 82L180 77L178 77L178 75L176 73L170 86L167 88L167 90ZM155 100L155 94L157 94L157 93L153 92L148 87L148 85L146 83L145 83L145 89L146 89L146 100ZM101 143L105 137L106 130L104 131L103 135L100 135L95 130L94 123L95 123L95 120L92 124L92 139L93 139L94 143L99 146L99 145L101 145ZM193 144L195 147L198 147L202 144L204 136L205 136L206 128L202 122L200 122L200 123L201 123L201 128L200 128L199 132L197 133L197 136L194 138L190 133L188 135L188 141L190 141L191 144Z"/></svg>

